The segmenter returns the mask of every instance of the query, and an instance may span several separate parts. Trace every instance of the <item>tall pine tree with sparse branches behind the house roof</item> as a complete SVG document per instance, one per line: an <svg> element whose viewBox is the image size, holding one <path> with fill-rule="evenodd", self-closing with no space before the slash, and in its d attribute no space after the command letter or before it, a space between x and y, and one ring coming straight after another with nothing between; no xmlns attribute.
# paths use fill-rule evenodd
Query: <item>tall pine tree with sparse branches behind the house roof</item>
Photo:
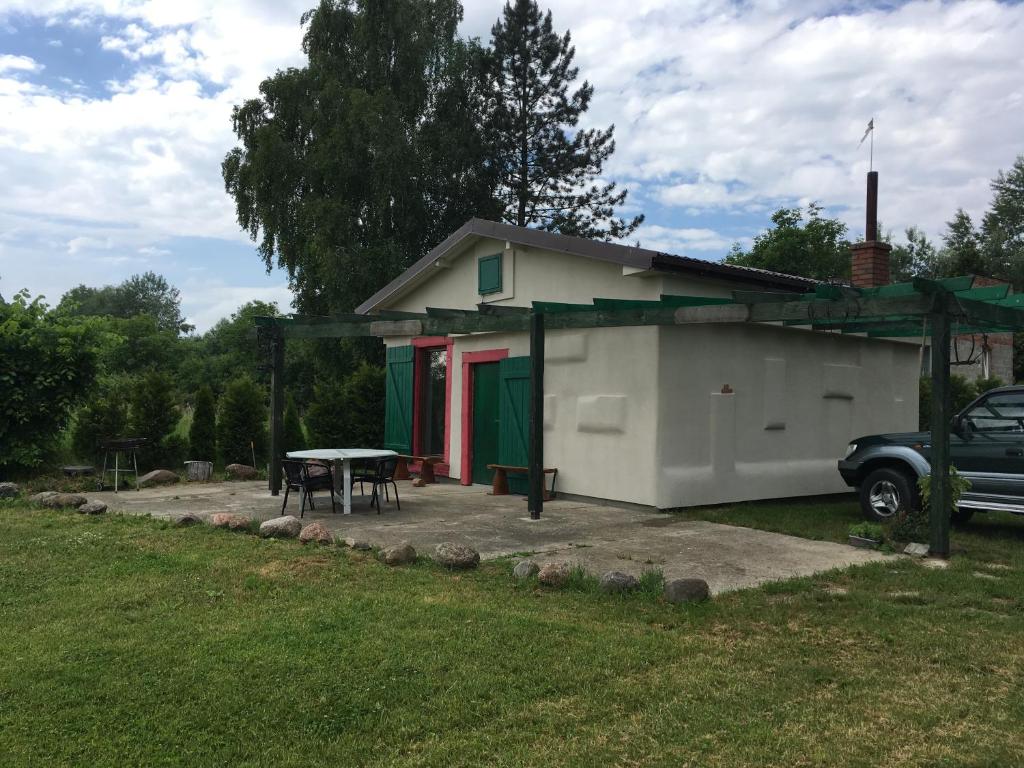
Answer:
<svg viewBox="0 0 1024 768"><path fill-rule="evenodd" d="M563 234L602 240L629 236L643 221L615 217L627 191L595 181L615 150L614 126L578 130L593 86L569 93L579 68L569 33L559 37L551 11L512 0L490 31L486 59L485 141L504 219Z"/></svg>

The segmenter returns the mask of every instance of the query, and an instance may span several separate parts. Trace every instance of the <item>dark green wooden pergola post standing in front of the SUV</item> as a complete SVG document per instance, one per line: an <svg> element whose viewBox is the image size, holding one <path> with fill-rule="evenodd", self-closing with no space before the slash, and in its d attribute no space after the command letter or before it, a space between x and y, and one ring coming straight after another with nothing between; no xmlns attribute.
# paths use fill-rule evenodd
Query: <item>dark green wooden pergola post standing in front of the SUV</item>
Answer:
<svg viewBox="0 0 1024 768"><path fill-rule="evenodd" d="M938 297L940 299L944 297ZM932 498L929 515L933 555L949 556L949 314L943 301L932 324Z"/></svg>

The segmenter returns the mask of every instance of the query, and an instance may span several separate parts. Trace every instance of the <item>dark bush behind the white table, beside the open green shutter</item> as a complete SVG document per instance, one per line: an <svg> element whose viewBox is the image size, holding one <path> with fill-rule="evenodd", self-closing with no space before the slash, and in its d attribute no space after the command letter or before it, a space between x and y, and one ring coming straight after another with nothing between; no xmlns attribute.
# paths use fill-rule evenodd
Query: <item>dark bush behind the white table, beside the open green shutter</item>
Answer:
<svg viewBox="0 0 1024 768"><path fill-rule="evenodd" d="M364 362L348 379L317 383L306 413L316 445L379 447L384 443L384 369Z"/></svg>

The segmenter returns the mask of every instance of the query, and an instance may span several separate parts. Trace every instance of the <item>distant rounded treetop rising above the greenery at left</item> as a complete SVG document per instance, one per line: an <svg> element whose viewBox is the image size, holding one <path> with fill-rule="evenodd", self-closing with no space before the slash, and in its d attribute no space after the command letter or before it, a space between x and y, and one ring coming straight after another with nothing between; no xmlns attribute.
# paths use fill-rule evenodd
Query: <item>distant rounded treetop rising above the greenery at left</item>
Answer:
<svg viewBox="0 0 1024 768"><path fill-rule="evenodd" d="M63 295L58 308L68 314L121 319L146 315L161 331L169 331L175 336L195 329L181 316L178 289L152 271L133 274L118 286L78 286Z"/></svg>

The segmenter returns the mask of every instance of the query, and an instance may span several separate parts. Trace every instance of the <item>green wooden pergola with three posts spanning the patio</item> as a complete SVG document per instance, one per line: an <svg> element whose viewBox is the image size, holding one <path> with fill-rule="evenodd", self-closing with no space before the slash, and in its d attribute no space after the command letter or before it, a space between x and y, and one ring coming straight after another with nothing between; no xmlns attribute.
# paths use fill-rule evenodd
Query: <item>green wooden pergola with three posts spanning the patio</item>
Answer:
<svg viewBox="0 0 1024 768"><path fill-rule="evenodd" d="M379 311L373 315L257 317L271 360L270 493L282 485L285 344L293 339L373 336L451 336L528 333L530 419L528 508L538 519L544 506L544 339L561 329L757 323L868 337L929 337L932 348L931 550L949 553L950 342L954 335L1024 331L1024 294L1009 286L974 288L974 278L915 279L881 288L821 284L812 293L735 291L732 298L664 295L658 300L594 299L591 304L534 302L531 307L480 304L476 309L427 307L425 312Z"/></svg>

